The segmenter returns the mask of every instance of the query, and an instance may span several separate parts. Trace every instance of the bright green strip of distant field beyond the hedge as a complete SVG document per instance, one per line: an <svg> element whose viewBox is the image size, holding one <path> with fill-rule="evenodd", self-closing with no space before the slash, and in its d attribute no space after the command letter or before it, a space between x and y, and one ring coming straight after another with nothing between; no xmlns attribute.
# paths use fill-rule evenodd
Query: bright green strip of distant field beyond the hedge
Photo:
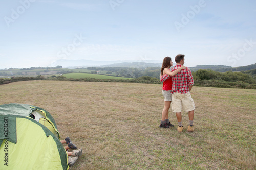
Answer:
<svg viewBox="0 0 256 170"><path fill-rule="evenodd" d="M66 73L63 74L66 78L80 79L80 78L94 78L94 79L132 79L132 78L124 78L124 77L116 77L116 76L106 76L99 74L90 74L90 73Z"/></svg>

